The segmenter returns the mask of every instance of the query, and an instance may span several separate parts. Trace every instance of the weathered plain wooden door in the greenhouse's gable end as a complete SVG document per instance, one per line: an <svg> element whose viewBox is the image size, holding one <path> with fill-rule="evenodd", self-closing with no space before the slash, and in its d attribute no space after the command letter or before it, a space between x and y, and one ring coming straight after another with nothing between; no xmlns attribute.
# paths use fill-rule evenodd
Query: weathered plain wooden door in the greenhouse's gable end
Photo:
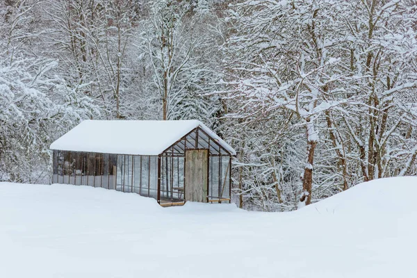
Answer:
<svg viewBox="0 0 417 278"><path fill-rule="evenodd" d="M208 149L187 149L185 166L185 200L206 203Z"/></svg>

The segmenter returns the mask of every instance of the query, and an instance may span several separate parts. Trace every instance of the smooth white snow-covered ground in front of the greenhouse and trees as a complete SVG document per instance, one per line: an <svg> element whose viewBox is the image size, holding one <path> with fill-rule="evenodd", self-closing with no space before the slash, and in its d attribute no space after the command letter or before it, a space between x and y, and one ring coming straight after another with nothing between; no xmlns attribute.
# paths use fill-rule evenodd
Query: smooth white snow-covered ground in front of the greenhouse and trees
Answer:
<svg viewBox="0 0 417 278"><path fill-rule="evenodd" d="M292 213L0 183L0 277L417 277L417 177Z"/></svg>

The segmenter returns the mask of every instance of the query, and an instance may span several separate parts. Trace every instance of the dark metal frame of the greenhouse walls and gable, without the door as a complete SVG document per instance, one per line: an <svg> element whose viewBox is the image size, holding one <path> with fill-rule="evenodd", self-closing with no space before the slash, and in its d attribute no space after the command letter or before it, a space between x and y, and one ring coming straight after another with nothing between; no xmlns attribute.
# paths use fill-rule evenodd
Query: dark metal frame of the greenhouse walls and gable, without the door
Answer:
<svg viewBox="0 0 417 278"><path fill-rule="evenodd" d="M207 163L207 171L208 171L208 179L207 179L207 202L225 202L229 200L230 202L230 196L231 196L231 165L232 165L232 158L231 153L222 147L213 137L209 136L208 133L206 133L203 129L200 127L197 127L188 133L186 133L184 136L179 138L174 144L170 145L170 147L167 147L161 154L158 156L152 156L154 158L151 158L151 156L140 156L140 155L131 155L131 154L107 154L107 153L94 153L94 152L70 152L70 151L53 151L53 178L52 181L58 183L60 180L60 175L58 171L58 165L59 165L59 156L63 156L63 161L61 161L61 164L65 164L65 154L67 152L70 152L68 156L70 157L70 165L72 165L72 157L75 156L75 163L74 168L72 169L74 171L74 184L77 184L77 170L81 170L80 174L80 184L83 185L89 185L94 187L101 187L101 188L113 188L115 185L115 190L117 190L117 184L120 183L120 190L121 191L129 191L129 192L136 192L136 183L135 183L135 176L136 174L139 174L138 179L138 186L139 195L145 195L148 197L151 197L151 186L156 186L156 196L153 195L153 197L156 197L156 200L158 204L161 204L163 206L170 206L170 205L176 205L176 204L183 204L185 202L185 196L186 196L186 177L184 177L185 174L185 167L186 167L186 155L185 152L188 149L208 149L208 163ZM92 165L90 165L90 156L94 156L94 170L90 169ZM128 161L126 161L126 156L128 158ZM222 173L222 165L223 165L223 159L224 156L229 157L228 165L227 165L227 171L225 173ZM136 161L136 157L140 158L140 162ZM99 169L97 169L97 158L99 159ZM105 159L107 158L107 159ZM114 161L115 158L115 161ZM183 158L183 159L180 159ZM214 169L214 161L213 159L218 159L218 169ZM143 160L147 159L147 190L145 189L145 179L143 179L142 175L146 171L143 165ZM156 159L157 159L157 165L156 165ZM161 161L163 159L163 161ZM79 160L81 160L81 165L79 165ZM131 165L129 164L131 161ZM183 163L183 166L180 167L180 162ZM177 165L175 164L177 163ZM62 173L63 178L64 175L64 167L62 167ZM114 166L116 167L116 172L113 171ZM156 166L156 169L155 169ZM105 168L106 167L106 168ZM120 169L119 169L120 167ZM138 169L136 169L138 167ZM164 169L163 169L164 167ZM129 176L129 170L131 170L131 181L129 181L129 177L126 181L126 171ZM138 172L139 170L139 172ZM213 173L217 172L218 174L218 181L215 185L213 183ZM54 174L56 172L56 174ZM104 174L107 174L107 186L104 186ZM89 177L90 174L92 174L92 184L90 183ZM117 175L120 174L120 181L117 179ZM152 174L156 174L156 177ZM222 175L224 174L224 177ZM227 174L229 174L229 179L227 179ZM96 181L97 175L100 176L99 179ZM68 183L70 183L70 177L72 176L72 173L69 173L69 179ZM166 177L165 177L166 176ZM111 181L111 177L113 177ZM182 191L177 189L174 190L174 187L181 188L180 187L180 177L182 177ZM86 179L83 182L83 178ZM156 185L154 184L154 179L156 178ZM165 179L163 181L162 179ZM177 179L176 186L174 186L174 180ZM229 183L229 198L224 198L222 196L222 190L224 190L224 187L226 186L226 182ZM63 179L63 183L65 183L65 179ZM99 183L99 184L98 184ZM111 184L112 183L112 184ZM127 184L129 183L129 184ZM151 185L153 183L153 185ZM162 188L164 186L164 188ZM218 196L213 196L213 186L218 187ZM165 188L166 187L166 188ZM154 189L152 189L154 190ZM165 203L162 202L161 199L161 193L166 192L166 197L169 198L170 202ZM175 197L174 197L175 195ZM183 196L181 198L181 196ZM179 201L179 202L178 202Z"/></svg>

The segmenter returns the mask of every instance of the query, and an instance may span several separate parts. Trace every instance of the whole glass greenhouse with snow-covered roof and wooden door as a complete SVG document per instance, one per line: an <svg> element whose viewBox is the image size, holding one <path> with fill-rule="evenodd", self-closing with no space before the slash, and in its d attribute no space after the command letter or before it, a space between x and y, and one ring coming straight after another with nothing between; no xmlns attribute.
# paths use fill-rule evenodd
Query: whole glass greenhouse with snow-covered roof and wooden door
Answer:
<svg viewBox="0 0 417 278"><path fill-rule="evenodd" d="M236 152L197 120L85 120L51 149L53 183L138 193L161 206L230 202Z"/></svg>

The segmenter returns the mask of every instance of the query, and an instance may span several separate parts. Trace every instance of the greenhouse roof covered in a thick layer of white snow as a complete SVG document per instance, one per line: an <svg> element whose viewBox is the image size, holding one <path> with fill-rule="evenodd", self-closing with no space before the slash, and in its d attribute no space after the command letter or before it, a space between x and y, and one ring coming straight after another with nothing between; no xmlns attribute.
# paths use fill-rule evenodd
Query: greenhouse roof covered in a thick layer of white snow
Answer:
<svg viewBox="0 0 417 278"><path fill-rule="evenodd" d="M198 120L85 120L53 142L51 149L154 156L198 126L232 155L236 154L227 142Z"/></svg>

